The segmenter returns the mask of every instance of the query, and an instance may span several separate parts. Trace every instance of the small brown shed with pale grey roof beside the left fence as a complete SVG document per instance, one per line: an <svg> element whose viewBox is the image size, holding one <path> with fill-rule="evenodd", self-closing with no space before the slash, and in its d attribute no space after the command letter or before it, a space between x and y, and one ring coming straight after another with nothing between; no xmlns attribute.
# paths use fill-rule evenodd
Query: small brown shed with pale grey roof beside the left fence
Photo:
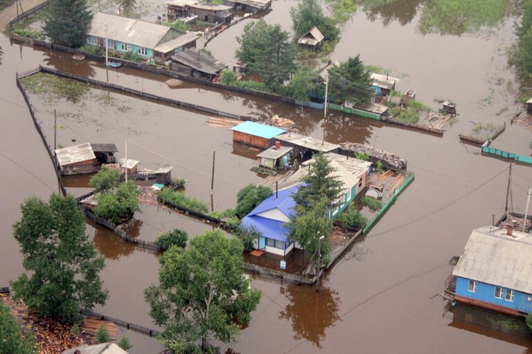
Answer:
<svg viewBox="0 0 532 354"><path fill-rule="evenodd" d="M90 174L100 168L89 142L56 149L55 158L62 174Z"/></svg>

